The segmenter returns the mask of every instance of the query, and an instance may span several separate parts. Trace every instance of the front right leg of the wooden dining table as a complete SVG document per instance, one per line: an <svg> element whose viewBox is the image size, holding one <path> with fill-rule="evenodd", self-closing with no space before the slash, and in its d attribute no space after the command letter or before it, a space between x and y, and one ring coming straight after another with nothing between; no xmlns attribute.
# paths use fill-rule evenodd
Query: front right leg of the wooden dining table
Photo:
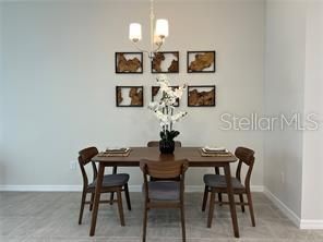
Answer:
<svg viewBox="0 0 323 242"><path fill-rule="evenodd" d="M236 204L235 204L235 196L232 191L232 184L231 184L231 172L230 172L230 165L225 165L225 176L227 181L227 189L228 189L228 198L230 204L230 213L231 213L231 220L234 226L234 232L235 237L239 238L239 227L238 227L238 220L237 220L237 211L236 211Z"/></svg>

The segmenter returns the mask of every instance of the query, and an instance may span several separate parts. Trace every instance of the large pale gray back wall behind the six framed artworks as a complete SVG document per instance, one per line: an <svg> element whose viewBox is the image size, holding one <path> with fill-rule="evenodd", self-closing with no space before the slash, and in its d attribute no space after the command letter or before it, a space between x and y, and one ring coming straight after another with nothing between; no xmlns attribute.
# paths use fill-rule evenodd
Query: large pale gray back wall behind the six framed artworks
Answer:
<svg viewBox="0 0 323 242"><path fill-rule="evenodd" d="M145 108L116 108L116 85L144 85L149 99L155 75L144 60L143 75L116 75L115 51L134 51L130 22L143 24L148 45L147 2L4 2L4 161L0 184L75 185L70 170L77 150L96 145L145 145L158 138L158 123ZM172 84L216 84L216 108L180 109L189 117L176 129L183 145L238 145L256 152L253 185L263 185L263 136L255 131L220 131L224 112L249 116L263 110L264 1L162 1L167 17L164 50L180 51ZM187 74L187 50L217 51L215 74ZM146 58L146 57L145 57ZM136 168L131 184L140 184ZM191 169L188 183L202 184L205 169Z"/></svg>

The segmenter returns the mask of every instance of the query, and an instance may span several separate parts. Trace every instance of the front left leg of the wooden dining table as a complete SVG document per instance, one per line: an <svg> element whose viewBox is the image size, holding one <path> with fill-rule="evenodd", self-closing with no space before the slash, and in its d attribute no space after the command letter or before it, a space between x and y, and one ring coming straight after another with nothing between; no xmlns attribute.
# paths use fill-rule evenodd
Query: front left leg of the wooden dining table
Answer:
<svg viewBox="0 0 323 242"><path fill-rule="evenodd" d="M89 229L89 235L91 237L93 237L94 233L95 233L97 210L98 210L98 204L99 204L99 199L100 199L100 190L101 190L101 186L103 186L104 173L105 173L105 166L101 162L99 162L97 180L96 180L96 186L95 186L95 195L94 195L94 205L93 205L93 211L92 211L91 229Z"/></svg>

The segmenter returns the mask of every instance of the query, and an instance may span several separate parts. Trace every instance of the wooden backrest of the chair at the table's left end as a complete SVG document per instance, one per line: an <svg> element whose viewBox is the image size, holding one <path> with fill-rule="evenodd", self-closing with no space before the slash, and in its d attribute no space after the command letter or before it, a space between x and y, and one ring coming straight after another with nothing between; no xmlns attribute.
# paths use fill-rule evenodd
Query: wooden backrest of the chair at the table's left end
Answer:
<svg viewBox="0 0 323 242"><path fill-rule="evenodd" d="M82 150L79 152L79 165L81 168L81 172L82 172L82 177L83 177L83 185L87 185L88 184L88 179L87 179L87 174L85 171L85 166L88 162L92 162L92 168L93 168L93 181L96 179L97 177L97 168L94 161L92 161L92 158L94 156L96 156L98 154L98 150L96 147L87 147L84 148Z"/></svg>

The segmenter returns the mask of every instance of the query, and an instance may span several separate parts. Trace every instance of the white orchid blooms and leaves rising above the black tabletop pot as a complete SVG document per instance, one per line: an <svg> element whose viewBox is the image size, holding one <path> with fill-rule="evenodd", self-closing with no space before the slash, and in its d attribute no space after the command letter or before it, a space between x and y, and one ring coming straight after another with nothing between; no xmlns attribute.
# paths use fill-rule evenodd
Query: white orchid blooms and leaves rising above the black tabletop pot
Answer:
<svg viewBox="0 0 323 242"><path fill-rule="evenodd" d="M172 141L179 134L178 131L172 130L174 123L188 114L186 111L175 113L175 104L177 99L182 97L186 85L178 88L170 87L169 80L165 74L157 76L157 83L160 86L158 93L162 93L162 98L159 101L149 102L148 108L154 111L154 114L159 120L162 140Z"/></svg>

